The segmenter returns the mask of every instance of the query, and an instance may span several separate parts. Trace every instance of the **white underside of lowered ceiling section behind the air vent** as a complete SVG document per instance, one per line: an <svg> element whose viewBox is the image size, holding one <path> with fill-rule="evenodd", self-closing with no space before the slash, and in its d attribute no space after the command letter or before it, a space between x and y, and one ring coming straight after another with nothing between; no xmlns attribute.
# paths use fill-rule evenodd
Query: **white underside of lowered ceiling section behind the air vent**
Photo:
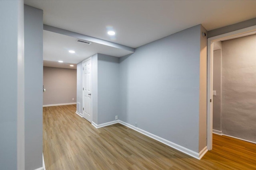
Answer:
<svg viewBox="0 0 256 170"><path fill-rule="evenodd" d="M77 64L80 61L96 54L101 53L114 57L122 57L133 53L123 49L92 43L90 45L77 42L77 38L54 33L51 31L43 31L44 33L44 60L46 61L63 61L64 63ZM69 53L73 50L76 53Z"/></svg>

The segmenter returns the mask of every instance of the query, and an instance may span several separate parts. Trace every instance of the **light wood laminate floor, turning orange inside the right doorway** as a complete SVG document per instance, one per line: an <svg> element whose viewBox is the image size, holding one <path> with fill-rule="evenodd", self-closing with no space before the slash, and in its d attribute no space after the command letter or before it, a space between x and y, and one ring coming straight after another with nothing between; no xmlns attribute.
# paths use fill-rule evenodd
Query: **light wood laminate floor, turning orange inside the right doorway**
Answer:
<svg viewBox="0 0 256 170"><path fill-rule="evenodd" d="M76 105L43 108L46 170L255 170L256 145L213 135L197 160L120 124L96 129Z"/></svg>

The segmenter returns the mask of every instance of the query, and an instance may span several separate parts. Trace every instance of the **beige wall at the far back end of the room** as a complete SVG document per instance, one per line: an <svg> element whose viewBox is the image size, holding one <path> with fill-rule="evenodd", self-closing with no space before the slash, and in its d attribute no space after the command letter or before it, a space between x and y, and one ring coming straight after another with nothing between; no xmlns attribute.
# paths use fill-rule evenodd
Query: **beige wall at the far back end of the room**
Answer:
<svg viewBox="0 0 256 170"><path fill-rule="evenodd" d="M76 70L44 67L43 105L76 102ZM74 100L72 100L74 98Z"/></svg>

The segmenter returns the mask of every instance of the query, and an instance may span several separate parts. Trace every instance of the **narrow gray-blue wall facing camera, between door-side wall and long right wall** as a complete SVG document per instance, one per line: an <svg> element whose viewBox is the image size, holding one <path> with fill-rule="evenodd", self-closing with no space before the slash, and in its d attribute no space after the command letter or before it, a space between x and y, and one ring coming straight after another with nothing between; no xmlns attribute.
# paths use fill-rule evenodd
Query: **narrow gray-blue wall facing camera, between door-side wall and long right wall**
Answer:
<svg viewBox="0 0 256 170"><path fill-rule="evenodd" d="M119 58L98 54L98 124L119 115Z"/></svg>

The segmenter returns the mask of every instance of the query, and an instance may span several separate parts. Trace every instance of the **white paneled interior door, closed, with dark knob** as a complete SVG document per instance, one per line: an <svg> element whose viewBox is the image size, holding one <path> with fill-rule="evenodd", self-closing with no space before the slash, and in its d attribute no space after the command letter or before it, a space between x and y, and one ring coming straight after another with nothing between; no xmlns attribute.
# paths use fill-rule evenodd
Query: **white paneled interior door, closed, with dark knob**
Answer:
<svg viewBox="0 0 256 170"><path fill-rule="evenodd" d="M92 59L83 62L83 117L92 121Z"/></svg>

